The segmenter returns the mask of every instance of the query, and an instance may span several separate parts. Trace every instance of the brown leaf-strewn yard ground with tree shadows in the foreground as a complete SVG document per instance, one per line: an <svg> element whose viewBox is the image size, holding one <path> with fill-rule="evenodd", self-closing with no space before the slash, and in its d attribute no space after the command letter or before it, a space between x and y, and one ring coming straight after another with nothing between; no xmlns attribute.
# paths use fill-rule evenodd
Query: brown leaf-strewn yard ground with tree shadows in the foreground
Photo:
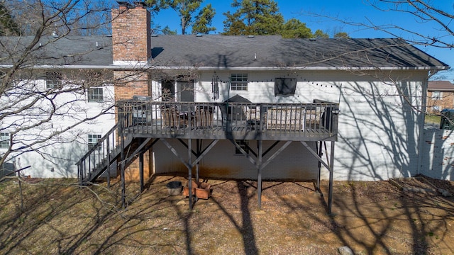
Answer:
<svg viewBox="0 0 454 255"><path fill-rule="evenodd" d="M453 182L424 177L328 183L265 181L258 210L255 181L206 180L212 196L189 210L154 176L145 191L128 183L79 187L77 180L0 183L1 254L454 254Z"/></svg>

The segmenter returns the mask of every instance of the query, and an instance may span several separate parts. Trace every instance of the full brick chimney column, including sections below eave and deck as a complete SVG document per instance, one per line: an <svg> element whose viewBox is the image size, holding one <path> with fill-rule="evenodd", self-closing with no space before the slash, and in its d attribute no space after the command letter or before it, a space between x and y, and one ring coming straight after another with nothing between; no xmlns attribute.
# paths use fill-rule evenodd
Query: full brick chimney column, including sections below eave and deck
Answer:
<svg viewBox="0 0 454 255"><path fill-rule="evenodd" d="M143 6L127 8L120 6L112 10L112 42L114 64L130 64L140 67L151 57L150 12ZM148 96L148 72L138 68L133 71L115 71L115 100L131 99L135 95ZM144 154L144 175L150 176L152 158ZM138 179L138 159L126 169L126 179Z"/></svg>

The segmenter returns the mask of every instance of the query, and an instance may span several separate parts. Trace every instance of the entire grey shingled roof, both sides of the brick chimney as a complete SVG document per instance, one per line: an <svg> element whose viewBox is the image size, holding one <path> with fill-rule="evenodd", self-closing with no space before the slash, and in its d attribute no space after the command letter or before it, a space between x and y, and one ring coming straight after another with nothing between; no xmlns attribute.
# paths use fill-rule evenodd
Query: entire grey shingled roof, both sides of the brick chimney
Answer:
<svg viewBox="0 0 454 255"><path fill-rule="evenodd" d="M0 37L3 45L27 45L33 37ZM41 45L55 40L41 39ZM109 36L66 36L40 48L30 65L114 67ZM277 35L157 35L151 38L150 66L159 68L279 69L339 67L391 67L447 69L447 64L399 39L284 39ZM25 47L25 46L23 46ZM6 54L21 53L1 49ZM13 54L13 56L16 56ZM36 61L32 61L36 60ZM6 57L0 64L11 64Z"/></svg>

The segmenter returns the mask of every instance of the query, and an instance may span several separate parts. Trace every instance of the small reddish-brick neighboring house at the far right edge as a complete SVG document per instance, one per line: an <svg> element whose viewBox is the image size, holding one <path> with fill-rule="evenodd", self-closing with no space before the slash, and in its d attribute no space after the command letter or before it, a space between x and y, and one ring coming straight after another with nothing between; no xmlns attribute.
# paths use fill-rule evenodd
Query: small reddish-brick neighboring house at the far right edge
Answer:
<svg viewBox="0 0 454 255"><path fill-rule="evenodd" d="M428 81L427 106L429 113L454 108L454 84L450 81Z"/></svg>

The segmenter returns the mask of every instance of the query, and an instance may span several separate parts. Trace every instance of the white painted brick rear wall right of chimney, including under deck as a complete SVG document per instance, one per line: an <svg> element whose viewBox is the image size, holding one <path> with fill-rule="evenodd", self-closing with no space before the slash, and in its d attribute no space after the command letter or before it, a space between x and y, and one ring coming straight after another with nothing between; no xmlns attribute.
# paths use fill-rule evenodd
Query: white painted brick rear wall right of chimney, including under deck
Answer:
<svg viewBox="0 0 454 255"><path fill-rule="evenodd" d="M419 134L422 115L401 99L394 86L369 76L350 71L298 70L279 72L241 71L248 77L247 91L228 90L232 74L217 71L220 87L217 102L233 95L247 98L253 103L311 103L314 99L339 104L338 142L335 149L335 178L337 180L380 180L399 176L414 176L418 169ZM407 76L408 72L393 72ZM211 79L214 72L201 74L195 83L195 101L214 101L211 98ZM423 91L426 72L414 72L411 81L399 82L402 91ZM275 79L291 77L297 80L294 95L275 96ZM159 82L154 83L159 91ZM210 93L206 93L209 91ZM409 96L414 105L421 107L421 93ZM422 109L422 108L421 108ZM274 141L265 141L272 144ZM250 147L257 147L254 140ZM175 141L175 145L178 142ZM315 146L314 146L315 148ZM184 147L180 146L184 151ZM155 172L187 171L176 156L160 142L153 147ZM323 149L323 154L329 154ZM301 143L294 142L281 157L263 171L265 179L317 179L318 161ZM219 142L201 161L201 176L216 178L256 179L256 169L248 159L238 153L228 140ZM321 171L328 179L328 171Z"/></svg>

